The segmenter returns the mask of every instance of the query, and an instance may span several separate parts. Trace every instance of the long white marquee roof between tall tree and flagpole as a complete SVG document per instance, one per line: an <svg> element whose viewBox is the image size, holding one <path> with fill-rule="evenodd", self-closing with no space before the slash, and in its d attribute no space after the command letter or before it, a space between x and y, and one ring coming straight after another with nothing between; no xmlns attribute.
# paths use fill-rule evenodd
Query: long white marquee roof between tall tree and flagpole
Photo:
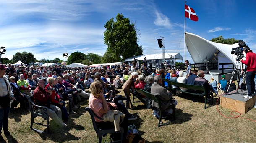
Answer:
<svg viewBox="0 0 256 143"><path fill-rule="evenodd" d="M172 58L176 60L183 60L183 57L180 55L180 53L165 53L166 60L170 59L170 56L172 56ZM159 53L159 54L133 56L125 59L125 62L134 61L134 58L136 58L137 60L144 60L145 57L147 60L157 60L157 59L162 59L163 55L162 53Z"/></svg>

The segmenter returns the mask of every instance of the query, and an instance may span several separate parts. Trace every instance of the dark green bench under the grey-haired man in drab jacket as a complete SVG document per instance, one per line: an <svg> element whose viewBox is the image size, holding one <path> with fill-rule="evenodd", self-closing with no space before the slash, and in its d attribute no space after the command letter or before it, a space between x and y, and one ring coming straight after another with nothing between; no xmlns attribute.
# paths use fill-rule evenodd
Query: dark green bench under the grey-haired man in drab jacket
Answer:
<svg viewBox="0 0 256 143"><path fill-rule="evenodd" d="M158 121L158 127L160 127L160 126L162 126L162 125L168 125L168 124L170 124L170 123L172 123L171 121L168 121L168 122L166 122L166 123L162 123L162 119L163 119L163 113L164 113L164 111L166 110L164 110L164 109L162 109L161 107L161 98L159 98L159 95L153 95L153 94L151 94L151 93L149 93L149 92L146 92L146 91L144 91L144 90L142 90L142 89L134 89L137 93L140 93L140 94L142 94L142 95L144 95L144 96L146 96L147 98L149 98L149 99L151 99L151 100L154 100L155 102L157 102L158 103L158 106L159 106L159 111L160 111L160 117L159 117L159 121ZM134 95L134 94L133 94ZM137 96L138 97L138 96ZM142 98L142 97L141 97ZM133 99L134 100L134 99ZM142 100L142 99L141 99ZM144 100L146 101L146 99L144 98ZM145 103L144 103L145 104ZM146 104L145 104L146 105ZM170 109L170 108L172 108L173 109L173 117L175 117L175 105L171 105L171 106L169 106L167 109Z"/></svg>

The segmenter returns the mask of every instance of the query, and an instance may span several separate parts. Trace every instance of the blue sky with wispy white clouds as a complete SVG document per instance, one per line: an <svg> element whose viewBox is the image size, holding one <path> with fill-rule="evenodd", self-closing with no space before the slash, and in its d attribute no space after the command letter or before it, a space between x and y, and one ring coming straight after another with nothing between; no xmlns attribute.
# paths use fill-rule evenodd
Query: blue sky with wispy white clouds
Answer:
<svg viewBox="0 0 256 143"><path fill-rule="evenodd" d="M199 17L186 18L186 32L207 40L222 35L242 39L256 51L255 0L187 0ZM3 58L31 52L37 60L60 58L63 53L103 55L104 24L122 13L136 24L144 55L184 55L184 0L0 0L0 46ZM166 51L165 51L166 52ZM186 52L186 60L191 57ZM193 62L192 62L193 63Z"/></svg>

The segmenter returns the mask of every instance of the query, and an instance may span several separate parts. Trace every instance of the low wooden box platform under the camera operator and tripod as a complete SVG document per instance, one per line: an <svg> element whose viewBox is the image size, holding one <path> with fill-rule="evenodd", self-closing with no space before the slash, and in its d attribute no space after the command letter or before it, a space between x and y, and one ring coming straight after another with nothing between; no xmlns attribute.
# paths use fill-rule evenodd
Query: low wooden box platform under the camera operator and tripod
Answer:
<svg viewBox="0 0 256 143"><path fill-rule="evenodd" d="M220 97L220 105L224 108L245 114L254 107L256 101L256 94L251 99L243 98L246 94L246 90L239 89L237 93L222 95Z"/></svg>

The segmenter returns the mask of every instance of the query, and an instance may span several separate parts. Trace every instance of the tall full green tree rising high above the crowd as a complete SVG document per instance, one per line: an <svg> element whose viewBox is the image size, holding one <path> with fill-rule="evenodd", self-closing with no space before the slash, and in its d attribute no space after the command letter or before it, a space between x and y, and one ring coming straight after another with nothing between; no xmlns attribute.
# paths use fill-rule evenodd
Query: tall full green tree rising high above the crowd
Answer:
<svg viewBox="0 0 256 143"><path fill-rule="evenodd" d="M143 55L142 46L138 45L138 32L135 24L122 14L116 16L116 21L111 18L104 25L104 43L107 52L112 53L112 62L119 62L134 55Z"/></svg>

